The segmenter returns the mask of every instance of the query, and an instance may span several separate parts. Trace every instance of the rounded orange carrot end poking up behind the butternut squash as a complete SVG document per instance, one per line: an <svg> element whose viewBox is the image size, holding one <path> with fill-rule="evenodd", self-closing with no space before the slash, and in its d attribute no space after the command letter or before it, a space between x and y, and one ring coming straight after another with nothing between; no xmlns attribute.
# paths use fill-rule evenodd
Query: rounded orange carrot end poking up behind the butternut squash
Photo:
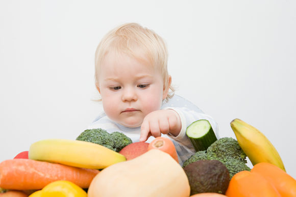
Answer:
<svg viewBox="0 0 296 197"><path fill-rule="evenodd" d="M175 145L171 142L169 138L156 137L148 146L148 150L151 149L158 149L165 153L168 153L172 158L179 162Z"/></svg>

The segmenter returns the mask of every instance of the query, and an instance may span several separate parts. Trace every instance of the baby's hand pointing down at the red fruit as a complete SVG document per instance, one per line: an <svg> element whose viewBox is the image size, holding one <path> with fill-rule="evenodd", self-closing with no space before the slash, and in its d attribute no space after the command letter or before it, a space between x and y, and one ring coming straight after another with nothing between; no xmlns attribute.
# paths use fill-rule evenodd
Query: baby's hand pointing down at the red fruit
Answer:
<svg viewBox="0 0 296 197"><path fill-rule="evenodd" d="M161 133L177 136L181 127L181 119L176 111L172 109L152 111L144 118L141 125L140 142L145 142L151 135L159 137Z"/></svg>

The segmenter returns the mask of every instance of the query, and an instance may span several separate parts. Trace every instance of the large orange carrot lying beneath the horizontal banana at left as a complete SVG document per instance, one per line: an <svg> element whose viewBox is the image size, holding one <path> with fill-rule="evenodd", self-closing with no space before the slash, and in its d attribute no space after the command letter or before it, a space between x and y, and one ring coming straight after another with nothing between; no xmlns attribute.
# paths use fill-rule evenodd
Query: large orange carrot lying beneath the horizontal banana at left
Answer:
<svg viewBox="0 0 296 197"><path fill-rule="evenodd" d="M42 189L53 181L67 180L88 188L98 172L95 169L32 159L9 159L0 163L0 187L15 190Z"/></svg>

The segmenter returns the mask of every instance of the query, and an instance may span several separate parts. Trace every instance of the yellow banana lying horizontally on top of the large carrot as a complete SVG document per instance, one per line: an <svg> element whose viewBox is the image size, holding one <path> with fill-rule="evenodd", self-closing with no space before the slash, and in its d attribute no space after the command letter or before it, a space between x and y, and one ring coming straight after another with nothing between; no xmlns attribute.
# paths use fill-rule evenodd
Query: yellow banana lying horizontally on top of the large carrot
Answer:
<svg viewBox="0 0 296 197"><path fill-rule="evenodd" d="M92 169L103 169L126 157L104 146L70 139L44 139L33 143L29 159L61 163Z"/></svg>

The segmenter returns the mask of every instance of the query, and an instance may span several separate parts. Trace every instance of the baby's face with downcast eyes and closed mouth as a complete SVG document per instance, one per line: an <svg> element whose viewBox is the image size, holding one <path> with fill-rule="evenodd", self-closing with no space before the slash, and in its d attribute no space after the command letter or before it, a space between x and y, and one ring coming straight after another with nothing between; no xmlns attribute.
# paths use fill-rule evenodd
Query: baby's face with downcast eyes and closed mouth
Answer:
<svg viewBox="0 0 296 197"><path fill-rule="evenodd" d="M101 64L97 89L106 115L126 127L140 126L167 96L159 69L112 52Z"/></svg>

